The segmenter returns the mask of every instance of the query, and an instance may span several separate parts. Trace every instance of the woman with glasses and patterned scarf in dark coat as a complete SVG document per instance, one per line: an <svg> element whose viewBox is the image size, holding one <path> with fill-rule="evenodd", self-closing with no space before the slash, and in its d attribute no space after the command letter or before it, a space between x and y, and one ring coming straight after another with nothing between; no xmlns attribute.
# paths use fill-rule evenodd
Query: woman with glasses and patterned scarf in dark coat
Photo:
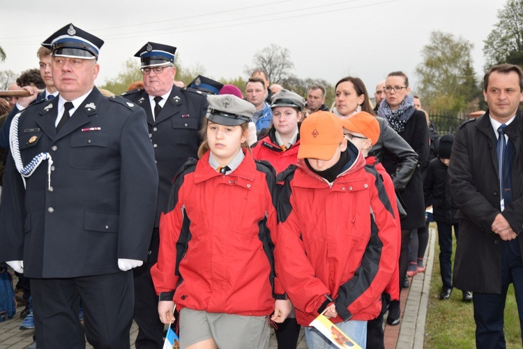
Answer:
<svg viewBox="0 0 523 349"><path fill-rule="evenodd" d="M407 216L401 219L402 242L400 251L400 280L407 274L409 265L409 237L425 227L425 204L421 165L429 155L429 135L425 113L414 109L414 97L409 94L409 78L401 71L388 74L385 80L385 99L378 109L379 117L405 140L418 154L418 164L407 185L397 193ZM389 174L397 169L397 158L385 153L381 161ZM400 322L400 302L393 301L388 309L387 321L391 325Z"/></svg>

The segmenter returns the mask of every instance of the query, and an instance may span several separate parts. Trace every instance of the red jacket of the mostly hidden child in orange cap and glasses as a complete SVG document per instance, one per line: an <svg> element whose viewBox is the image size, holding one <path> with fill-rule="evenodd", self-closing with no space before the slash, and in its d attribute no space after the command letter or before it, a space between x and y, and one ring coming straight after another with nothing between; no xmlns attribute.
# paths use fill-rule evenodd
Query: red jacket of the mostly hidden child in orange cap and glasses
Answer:
<svg viewBox="0 0 523 349"><path fill-rule="evenodd" d="M387 292L389 295L391 295L391 300L400 300L400 249L402 244L402 229L400 226L400 212L397 211L397 201L396 201L396 191L394 188L393 181L391 179L391 176L387 173L383 165L379 163L375 156L367 156L365 158L365 161L367 165L372 165L379 174L381 174L381 178L383 179L383 184L385 186L385 191L388 195L388 200L391 201L391 205L393 207L394 217L397 221L397 258L396 258L396 264L395 269L393 272L393 275L391 277L391 281L388 282L387 287L385 288L385 292Z"/></svg>

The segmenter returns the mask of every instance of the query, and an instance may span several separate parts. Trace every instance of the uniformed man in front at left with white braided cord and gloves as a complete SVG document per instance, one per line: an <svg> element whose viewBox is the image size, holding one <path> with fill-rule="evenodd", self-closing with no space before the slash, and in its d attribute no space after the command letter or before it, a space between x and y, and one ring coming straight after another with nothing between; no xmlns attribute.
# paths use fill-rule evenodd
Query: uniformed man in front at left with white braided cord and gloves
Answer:
<svg viewBox="0 0 523 349"><path fill-rule="evenodd" d="M13 119L0 260L31 279L38 348L130 348L158 190L146 115L94 86L103 40L68 24L42 45L59 96Z"/></svg>

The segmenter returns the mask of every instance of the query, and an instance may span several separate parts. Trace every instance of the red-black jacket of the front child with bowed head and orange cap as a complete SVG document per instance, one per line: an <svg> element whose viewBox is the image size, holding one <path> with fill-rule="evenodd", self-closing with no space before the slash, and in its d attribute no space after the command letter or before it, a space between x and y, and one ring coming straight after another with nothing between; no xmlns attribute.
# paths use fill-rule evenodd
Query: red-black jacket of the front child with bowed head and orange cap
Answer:
<svg viewBox="0 0 523 349"><path fill-rule="evenodd" d="M332 184L301 160L280 176L277 285L301 325L317 317L326 295L339 314L333 322L376 318L397 264L397 224L381 177L349 144L351 161Z"/></svg>

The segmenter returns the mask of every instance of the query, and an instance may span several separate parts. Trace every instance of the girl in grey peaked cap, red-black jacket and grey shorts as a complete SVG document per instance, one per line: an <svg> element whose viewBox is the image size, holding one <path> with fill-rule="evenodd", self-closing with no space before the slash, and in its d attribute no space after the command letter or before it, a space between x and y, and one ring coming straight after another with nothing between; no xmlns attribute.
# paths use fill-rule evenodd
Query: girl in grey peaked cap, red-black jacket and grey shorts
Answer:
<svg viewBox="0 0 523 349"><path fill-rule="evenodd" d="M268 348L267 317L283 322L291 309L273 293L275 175L245 143L254 106L207 99L199 161L176 174L160 218L158 313L171 323L176 304L182 348Z"/></svg>

